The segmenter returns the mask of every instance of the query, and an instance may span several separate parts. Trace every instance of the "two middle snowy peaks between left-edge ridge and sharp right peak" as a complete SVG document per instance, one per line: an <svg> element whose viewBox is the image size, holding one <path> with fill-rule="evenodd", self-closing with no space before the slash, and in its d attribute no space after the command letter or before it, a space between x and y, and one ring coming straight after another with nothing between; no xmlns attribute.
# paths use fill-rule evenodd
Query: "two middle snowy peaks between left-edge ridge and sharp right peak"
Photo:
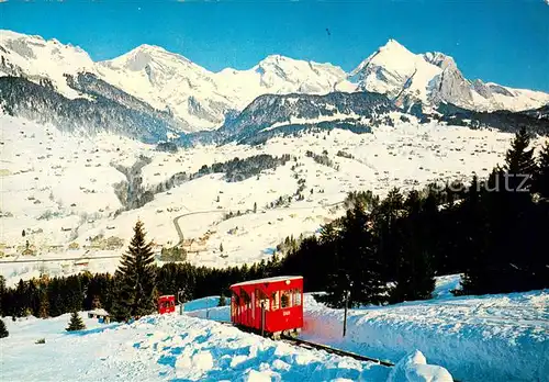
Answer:
<svg viewBox="0 0 549 382"><path fill-rule="evenodd" d="M243 110L265 93L326 93L345 79L345 71L329 64L268 56L248 70L217 74L183 56L157 46L142 45L112 60L98 63L108 82L139 97L157 109L170 110L188 131L220 126L229 110Z"/></svg>

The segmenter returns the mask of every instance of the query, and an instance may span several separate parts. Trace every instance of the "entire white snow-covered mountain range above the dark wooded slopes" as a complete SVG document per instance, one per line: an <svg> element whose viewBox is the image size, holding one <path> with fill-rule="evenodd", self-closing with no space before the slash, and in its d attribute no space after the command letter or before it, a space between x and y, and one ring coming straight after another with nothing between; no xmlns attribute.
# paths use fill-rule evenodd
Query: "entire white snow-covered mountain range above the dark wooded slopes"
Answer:
<svg viewBox="0 0 549 382"><path fill-rule="evenodd" d="M330 64L279 55L268 56L247 70L212 72L150 45L94 63L79 47L11 31L0 31L0 76L25 77L67 99L93 100L98 89L101 97L114 102L123 94L125 108L147 109L154 117L183 132L215 130L227 122L227 115L245 110L262 94L370 91L388 96L397 106L446 102L477 111L518 111L549 103L547 93L470 81L451 57L413 54L394 40L349 74ZM93 79L101 86L90 91L78 79Z"/></svg>

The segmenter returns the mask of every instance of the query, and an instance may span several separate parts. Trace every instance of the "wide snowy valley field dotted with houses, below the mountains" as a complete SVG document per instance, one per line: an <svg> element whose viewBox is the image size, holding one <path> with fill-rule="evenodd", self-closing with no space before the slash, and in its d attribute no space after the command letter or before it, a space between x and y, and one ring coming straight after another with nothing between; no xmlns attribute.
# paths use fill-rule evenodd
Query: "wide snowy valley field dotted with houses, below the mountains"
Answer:
<svg viewBox="0 0 549 382"><path fill-rule="evenodd" d="M466 179L472 171L484 176L502 164L512 138L492 131L395 123L395 127L378 127L373 134L336 130L329 135L273 138L257 147L199 146L169 154L123 137L67 135L2 115L0 262L33 262L0 263L0 272L12 284L41 272L113 271L137 218L145 222L148 238L159 251L179 241L173 220L181 215L178 222L187 249L192 251L192 263L225 267L258 261L272 256L285 236L312 234L340 215L343 210L333 204L341 202L349 191L370 189L383 195L393 187L419 188L437 179ZM307 150L318 155L326 150L339 170L315 162L306 157ZM337 156L339 150L354 158ZM127 168L141 155L150 158L142 178L145 189L154 189L179 171L192 173L203 165L258 154L290 154L298 161L239 182L226 182L223 175L205 176L155 194L154 201L141 209L116 212L122 203L114 184L126 179L116 165ZM292 170L296 164L300 166ZM299 179L305 181L304 200L266 209L280 196L294 194ZM224 212L250 212L254 203L256 214L222 221ZM187 215L197 212L203 213ZM100 235L103 245L90 240ZM105 246L109 238L122 240L122 246ZM23 255L27 240L35 257ZM223 258L221 244L226 255ZM34 261L47 258L67 260Z"/></svg>

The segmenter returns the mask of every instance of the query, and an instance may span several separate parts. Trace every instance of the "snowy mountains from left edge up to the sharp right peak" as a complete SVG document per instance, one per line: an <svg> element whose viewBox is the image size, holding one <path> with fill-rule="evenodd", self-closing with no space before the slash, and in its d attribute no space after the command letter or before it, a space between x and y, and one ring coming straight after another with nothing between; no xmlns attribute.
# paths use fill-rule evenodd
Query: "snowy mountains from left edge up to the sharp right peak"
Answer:
<svg viewBox="0 0 549 382"><path fill-rule="evenodd" d="M212 72L150 45L93 63L79 47L11 31L0 32L0 76L24 76L36 83L51 83L60 94L74 99L83 93L67 83L67 75L92 74L172 114L186 132L219 127L227 112L243 110L260 94L326 93L346 77L343 69L329 64L279 55L268 56L248 70Z"/></svg>

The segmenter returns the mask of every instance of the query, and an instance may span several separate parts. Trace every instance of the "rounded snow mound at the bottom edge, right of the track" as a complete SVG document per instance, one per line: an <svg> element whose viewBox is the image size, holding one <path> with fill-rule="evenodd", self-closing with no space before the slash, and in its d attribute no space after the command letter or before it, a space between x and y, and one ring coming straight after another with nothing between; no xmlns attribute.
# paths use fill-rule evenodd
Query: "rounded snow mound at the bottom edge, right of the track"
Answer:
<svg viewBox="0 0 549 382"><path fill-rule="evenodd" d="M434 364L427 364L425 356L415 350L404 357L389 373L386 382L452 382L448 370Z"/></svg>

